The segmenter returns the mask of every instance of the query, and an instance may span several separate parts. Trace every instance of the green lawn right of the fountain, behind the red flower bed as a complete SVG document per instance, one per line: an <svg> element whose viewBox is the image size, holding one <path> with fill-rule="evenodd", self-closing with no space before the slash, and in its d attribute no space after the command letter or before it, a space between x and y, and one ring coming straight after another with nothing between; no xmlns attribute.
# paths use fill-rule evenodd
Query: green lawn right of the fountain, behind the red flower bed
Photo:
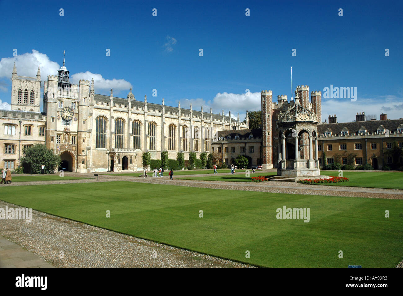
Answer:
<svg viewBox="0 0 403 296"><path fill-rule="evenodd" d="M320 171L320 174L338 176L339 172ZM349 181L340 183L321 183L318 185L403 189L403 172L343 171L343 177L349 178Z"/></svg>

